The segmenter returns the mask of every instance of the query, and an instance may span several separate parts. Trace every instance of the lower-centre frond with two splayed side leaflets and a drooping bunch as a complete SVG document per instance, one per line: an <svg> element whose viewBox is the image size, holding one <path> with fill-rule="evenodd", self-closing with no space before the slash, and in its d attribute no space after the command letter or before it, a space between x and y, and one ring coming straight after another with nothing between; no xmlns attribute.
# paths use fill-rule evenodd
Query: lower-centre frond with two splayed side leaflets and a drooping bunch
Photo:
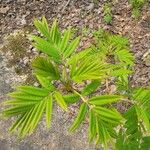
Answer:
<svg viewBox="0 0 150 150"><path fill-rule="evenodd" d="M89 118L89 140L96 140L97 144L103 143L105 149L108 143L116 137L117 127L124 119L114 108L108 109L105 105L121 100L118 95L101 95L92 97L87 102L82 103L75 121L70 127L70 131L75 131L81 123Z"/></svg>

